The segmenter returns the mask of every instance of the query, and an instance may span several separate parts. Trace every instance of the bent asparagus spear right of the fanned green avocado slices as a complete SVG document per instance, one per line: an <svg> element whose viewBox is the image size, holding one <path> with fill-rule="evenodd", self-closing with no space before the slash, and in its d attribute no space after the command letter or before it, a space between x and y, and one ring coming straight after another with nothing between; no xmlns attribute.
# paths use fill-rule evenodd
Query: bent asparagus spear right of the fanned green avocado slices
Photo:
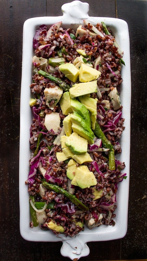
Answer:
<svg viewBox="0 0 147 261"><path fill-rule="evenodd" d="M95 124L95 130L93 131L95 135L102 140L103 146L106 149L109 149L109 169L115 170L115 158L114 158L114 149L111 142L106 138L105 134L103 133L101 127L99 126L98 122Z"/></svg>

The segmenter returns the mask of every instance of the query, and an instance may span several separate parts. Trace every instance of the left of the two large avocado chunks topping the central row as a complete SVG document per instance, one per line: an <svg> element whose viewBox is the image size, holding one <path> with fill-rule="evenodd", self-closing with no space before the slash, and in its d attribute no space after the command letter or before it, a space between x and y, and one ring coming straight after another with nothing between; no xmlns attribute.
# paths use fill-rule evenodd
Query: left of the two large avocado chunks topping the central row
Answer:
<svg viewBox="0 0 147 261"><path fill-rule="evenodd" d="M70 81L76 82L79 77L79 70L72 63L65 63L59 66L59 70L65 74Z"/></svg>

